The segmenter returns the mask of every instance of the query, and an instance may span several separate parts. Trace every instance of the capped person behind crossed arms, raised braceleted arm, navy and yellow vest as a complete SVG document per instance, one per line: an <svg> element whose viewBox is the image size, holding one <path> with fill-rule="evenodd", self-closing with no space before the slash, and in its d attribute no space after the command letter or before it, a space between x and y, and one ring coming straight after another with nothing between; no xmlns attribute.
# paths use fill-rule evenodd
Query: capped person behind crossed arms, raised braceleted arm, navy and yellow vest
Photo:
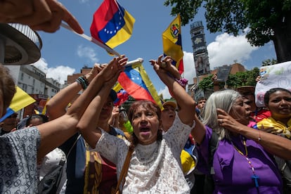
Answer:
<svg viewBox="0 0 291 194"><path fill-rule="evenodd" d="M96 77L105 66L106 64L93 65L88 74L78 77L76 82L56 93L46 104L50 119L64 115L67 111L67 105L76 98L80 90L86 89L86 82L90 83L93 77ZM84 80L87 81L84 82ZM116 98L117 93L111 89L106 97L106 103L101 108L101 115L96 118L98 123L95 127L101 127L110 135L124 138L122 130L108 123ZM116 187L115 164L101 157L98 152L87 149L88 147L88 143L79 133L59 146L67 155L67 183L62 189L65 193L91 193L92 190L99 193L110 193L112 188Z"/></svg>

